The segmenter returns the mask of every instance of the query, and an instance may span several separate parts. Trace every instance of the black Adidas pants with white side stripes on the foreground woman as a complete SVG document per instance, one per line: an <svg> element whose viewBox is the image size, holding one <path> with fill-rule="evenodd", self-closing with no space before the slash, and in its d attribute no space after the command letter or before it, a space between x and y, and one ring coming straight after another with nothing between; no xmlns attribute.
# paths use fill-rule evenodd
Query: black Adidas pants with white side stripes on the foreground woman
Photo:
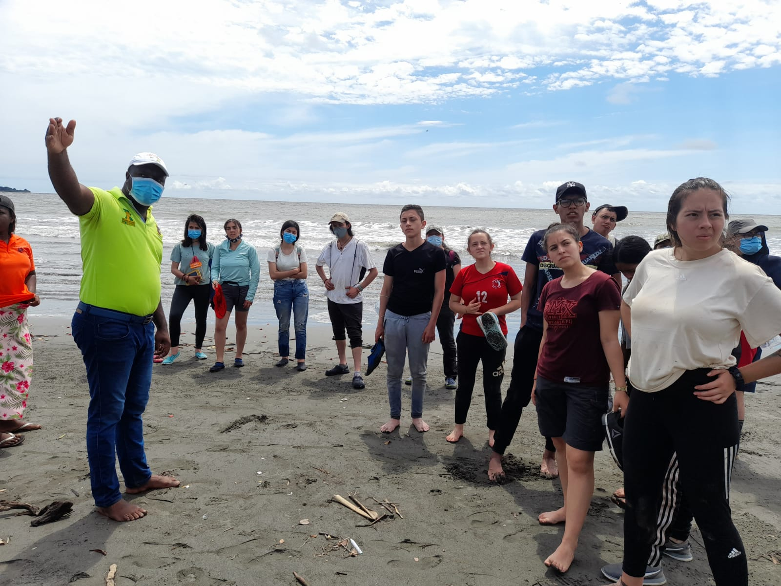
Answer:
<svg viewBox="0 0 781 586"><path fill-rule="evenodd" d="M674 510L674 503L663 502L662 495L669 493L663 485L680 481L715 583L748 584L746 551L729 509L739 435L737 402L734 394L721 405L694 395L697 384L712 381L708 372L689 370L662 391L634 391L629 401L623 434L623 570L629 576L644 576L652 546L663 539L658 519L672 519Z"/></svg>

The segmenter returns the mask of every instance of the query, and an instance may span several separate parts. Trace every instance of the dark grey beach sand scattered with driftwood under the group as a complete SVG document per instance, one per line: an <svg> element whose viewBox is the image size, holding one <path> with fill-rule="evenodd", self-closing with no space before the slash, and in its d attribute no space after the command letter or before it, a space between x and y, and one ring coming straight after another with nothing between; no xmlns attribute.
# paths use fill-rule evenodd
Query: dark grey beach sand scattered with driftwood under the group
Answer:
<svg viewBox="0 0 781 586"><path fill-rule="evenodd" d="M369 338L373 328L366 330ZM312 327L309 369L275 368L274 323L251 331L243 369L209 373L213 350L209 360L196 361L192 348L171 366L155 365L144 416L148 460L155 473L171 473L181 486L130 496L148 509L144 519L106 520L91 498L80 353L67 323L39 320L33 331L27 416L45 428L28 433L20 448L0 450L0 499L38 506L71 500L73 513L41 527L30 527L30 517L15 511L0 513L0 538L10 538L0 545L2 584L98 586L114 563L116 586L296 584L294 571L311 586L604 584L599 568L621 558L623 516L610 495L622 477L608 452L597 453L597 488L580 548L560 577L543 560L563 527L541 527L537 515L562 504L561 489L537 473L544 440L533 409L508 449L508 481L490 485L480 380L467 437L457 445L444 441L454 391L441 387L438 342L424 412L431 431L410 427L405 387L401 427L380 434L388 415L384 366L366 377L363 391L354 391L348 376L324 377L336 352L328 328ZM778 385L778 378L760 384L747 398L733 473L733 518L751 584L781 583ZM367 520L331 502L350 493L380 513L387 511L372 497L398 503L403 519L394 515L367 527ZM354 539L362 555L348 556L321 533ZM693 541L694 562L665 558L669 584L713 584L697 530Z"/></svg>

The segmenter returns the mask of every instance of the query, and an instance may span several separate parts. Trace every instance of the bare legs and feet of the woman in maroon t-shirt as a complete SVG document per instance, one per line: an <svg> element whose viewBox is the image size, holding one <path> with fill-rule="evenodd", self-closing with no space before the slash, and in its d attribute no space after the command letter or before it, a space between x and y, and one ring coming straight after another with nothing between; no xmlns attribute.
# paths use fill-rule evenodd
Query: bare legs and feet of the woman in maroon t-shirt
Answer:
<svg viewBox="0 0 781 586"><path fill-rule="evenodd" d="M594 494L594 452L585 452L566 445L562 438L553 438L556 445L558 470L562 479L564 506L550 513L540 515L540 523L551 524L565 521L561 545L545 560L545 565L560 572L569 570L580 538L580 531L586 520L591 496ZM633 586L625 580L626 586ZM642 584L642 578L640 578Z"/></svg>

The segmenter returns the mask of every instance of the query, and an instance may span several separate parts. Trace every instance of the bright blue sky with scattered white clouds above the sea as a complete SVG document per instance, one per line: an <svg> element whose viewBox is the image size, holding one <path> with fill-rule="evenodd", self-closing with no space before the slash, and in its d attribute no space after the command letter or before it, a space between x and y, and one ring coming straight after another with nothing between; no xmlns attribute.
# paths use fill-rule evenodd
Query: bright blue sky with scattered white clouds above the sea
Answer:
<svg viewBox="0 0 781 586"><path fill-rule="evenodd" d="M0 185L156 152L166 195L781 214L781 2L0 0ZM594 203L592 205L594 205Z"/></svg>

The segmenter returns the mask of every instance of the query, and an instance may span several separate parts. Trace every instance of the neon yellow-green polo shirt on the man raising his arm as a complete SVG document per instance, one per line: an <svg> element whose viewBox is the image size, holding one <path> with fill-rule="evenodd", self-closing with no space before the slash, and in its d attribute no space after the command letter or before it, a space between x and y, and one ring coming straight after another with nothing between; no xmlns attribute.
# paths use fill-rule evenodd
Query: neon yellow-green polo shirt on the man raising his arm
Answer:
<svg viewBox="0 0 781 586"><path fill-rule="evenodd" d="M162 234L152 208L144 222L121 189L90 191L95 203L79 216L84 266L79 298L137 316L154 313L160 302Z"/></svg>

